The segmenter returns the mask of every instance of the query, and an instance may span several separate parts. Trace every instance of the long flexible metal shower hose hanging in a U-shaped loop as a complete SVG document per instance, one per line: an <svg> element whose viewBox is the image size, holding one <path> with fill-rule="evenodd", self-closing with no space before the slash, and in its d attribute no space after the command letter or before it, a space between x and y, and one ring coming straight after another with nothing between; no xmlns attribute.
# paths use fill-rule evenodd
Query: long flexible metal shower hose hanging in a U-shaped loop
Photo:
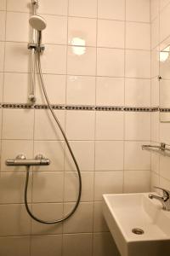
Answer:
<svg viewBox="0 0 170 256"><path fill-rule="evenodd" d="M42 223L42 224L58 224L60 222L63 222L65 221L67 218L70 218L71 215L76 212L77 210L77 207L80 203L80 200L81 200L81 194L82 194L82 177L81 177L81 172L80 172L80 169L79 169L79 166L77 164L77 160L76 160L76 157L71 149L71 145L70 143L68 142L68 139L65 135L65 131L63 130L62 126L60 125L59 123L59 119L57 118L57 116L55 115L54 113L54 109L52 108L52 105L51 103L49 102L49 99L48 99L48 94L47 94L47 91L46 91L46 88L45 88L45 84L44 84L44 81L43 81L43 77L42 77L42 67L41 67L41 59L40 59L40 51L37 51L37 68L38 68L38 73L39 73L39 77L40 77L40 81L41 81L41 85L42 85L42 91L43 91L43 94L45 96L45 99L46 99L46 102L48 103L48 108L50 110L50 112L52 113L53 117L54 117L54 120L56 121L57 125L59 126L59 130L61 131L64 139L65 139L65 143L67 145L67 148L69 149L69 152L71 154L71 157L74 161L74 164L77 168L77 174L78 174L78 180L79 180L79 189L78 189L78 195L77 195L77 201L76 201L76 204L75 206L72 208L71 212L69 212L68 214L66 214L63 218L59 218L59 219L56 219L54 221L48 221L48 220L42 220L41 218L37 218L30 210L30 207L28 206L28 201L27 201L27 194L28 194L28 183L29 183L29 176L30 176L30 167L28 166L26 168L26 184L25 184L25 196L24 196L24 200L25 200L25 205L26 205L26 211L28 212L28 214L31 216L31 218L33 218L34 220L36 220L37 222L39 223Z"/></svg>

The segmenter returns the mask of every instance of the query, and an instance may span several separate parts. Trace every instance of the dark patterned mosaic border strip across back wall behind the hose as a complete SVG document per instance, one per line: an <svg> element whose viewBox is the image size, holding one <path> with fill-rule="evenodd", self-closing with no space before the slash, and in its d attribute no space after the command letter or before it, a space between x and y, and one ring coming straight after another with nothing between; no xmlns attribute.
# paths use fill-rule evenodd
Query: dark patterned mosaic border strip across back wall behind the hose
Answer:
<svg viewBox="0 0 170 256"><path fill-rule="evenodd" d="M48 109L46 104L30 105L26 103L0 103L0 108L11 109ZM170 108L144 108L123 106L86 106L86 105L52 105L53 109L59 110L88 110L88 111L125 111L125 112L170 112Z"/></svg>

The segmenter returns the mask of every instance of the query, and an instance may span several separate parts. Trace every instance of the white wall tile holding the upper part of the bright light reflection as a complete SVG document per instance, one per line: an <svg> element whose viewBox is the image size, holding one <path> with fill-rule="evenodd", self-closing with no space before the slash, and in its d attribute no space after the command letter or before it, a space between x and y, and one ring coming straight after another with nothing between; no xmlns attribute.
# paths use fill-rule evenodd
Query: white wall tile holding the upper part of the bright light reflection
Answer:
<svg viewBox="0 0 170 256"><path fill-rule="evenodd" d="M75 46L95 46L96 20L69 17L68 44Z"/></svg>

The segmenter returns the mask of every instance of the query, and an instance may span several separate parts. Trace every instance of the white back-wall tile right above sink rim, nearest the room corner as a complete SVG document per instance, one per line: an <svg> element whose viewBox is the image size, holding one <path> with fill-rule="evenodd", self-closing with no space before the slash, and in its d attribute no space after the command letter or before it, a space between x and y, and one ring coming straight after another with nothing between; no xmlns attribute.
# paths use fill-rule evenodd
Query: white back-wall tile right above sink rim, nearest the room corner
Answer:
<svg viewBox="0 0 170 256"><path fill-rule="evenodd" d="M125 171L124 193L150 191L150 171Z"/></svg>

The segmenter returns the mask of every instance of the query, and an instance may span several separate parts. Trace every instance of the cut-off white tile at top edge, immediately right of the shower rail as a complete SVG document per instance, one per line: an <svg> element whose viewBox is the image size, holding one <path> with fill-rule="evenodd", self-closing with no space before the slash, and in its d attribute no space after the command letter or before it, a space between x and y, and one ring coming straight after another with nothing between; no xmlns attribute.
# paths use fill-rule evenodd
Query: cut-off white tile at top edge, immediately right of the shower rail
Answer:
<svg viewBox="0 0 170 256"><path fill-rule="evenodd" d="M40 0L39 13L48 15L67 15L68 0Z"/></svg>

